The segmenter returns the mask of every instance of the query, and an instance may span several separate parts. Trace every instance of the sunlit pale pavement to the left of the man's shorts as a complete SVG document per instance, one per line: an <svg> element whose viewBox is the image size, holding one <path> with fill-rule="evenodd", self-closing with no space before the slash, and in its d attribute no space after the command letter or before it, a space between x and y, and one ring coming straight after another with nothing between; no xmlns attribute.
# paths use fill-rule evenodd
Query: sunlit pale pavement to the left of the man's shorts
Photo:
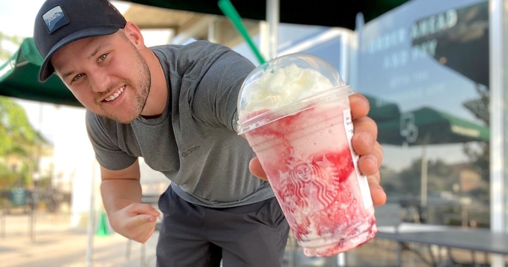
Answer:
<svg viewBox="0 0 508 267"><path fill-rule="evenodd" d="M81 267L86 266L88 236L84 229L72 229L69 216L37 214L34 239L29 236L28 215L7 215L0 229L0 262L3 267ZM3 225L2 225L3 227ZM145 261L141 261L142 245L117 233L93 236L93 267L155 266L155 232L145 244Z"/></svg>

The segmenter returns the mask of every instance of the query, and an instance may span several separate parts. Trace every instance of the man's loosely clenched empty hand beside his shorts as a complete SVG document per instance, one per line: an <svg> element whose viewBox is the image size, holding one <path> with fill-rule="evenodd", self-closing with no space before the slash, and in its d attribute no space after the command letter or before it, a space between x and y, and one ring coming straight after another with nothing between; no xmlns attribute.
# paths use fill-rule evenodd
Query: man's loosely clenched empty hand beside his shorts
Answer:
<svg viewBox="0 0 508 267"><path fill-rule="evenodd" d="M128 239L145 243L155 230L157 212L151 205L133 203L109 215L113 229Z"/></svg>

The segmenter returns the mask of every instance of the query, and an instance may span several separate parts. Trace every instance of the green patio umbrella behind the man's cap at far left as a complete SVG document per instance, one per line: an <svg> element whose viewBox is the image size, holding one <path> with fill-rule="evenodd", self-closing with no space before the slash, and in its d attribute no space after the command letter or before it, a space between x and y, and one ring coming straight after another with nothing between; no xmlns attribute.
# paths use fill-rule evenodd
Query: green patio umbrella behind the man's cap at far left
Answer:
<svg viewBox="0 0 508 267"><path fill-rule="evenodd" d="M56 75L39 82L42 62L34 40L24 39L16 53L0 67L0 95L82 107Z"/></svg>

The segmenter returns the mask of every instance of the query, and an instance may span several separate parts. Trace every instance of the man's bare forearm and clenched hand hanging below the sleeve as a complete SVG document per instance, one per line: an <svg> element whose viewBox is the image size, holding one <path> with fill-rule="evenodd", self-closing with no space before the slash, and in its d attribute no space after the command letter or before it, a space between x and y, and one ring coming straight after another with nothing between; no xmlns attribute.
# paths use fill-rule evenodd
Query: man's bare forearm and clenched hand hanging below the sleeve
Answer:
<svg viewBox="0 0 508 267"><path fill-rule="evenodd" d="M144 243L155 229L159 212L141 203L139 163L122 170L101 166L101 194L111 227L126 238Z"/></svg>

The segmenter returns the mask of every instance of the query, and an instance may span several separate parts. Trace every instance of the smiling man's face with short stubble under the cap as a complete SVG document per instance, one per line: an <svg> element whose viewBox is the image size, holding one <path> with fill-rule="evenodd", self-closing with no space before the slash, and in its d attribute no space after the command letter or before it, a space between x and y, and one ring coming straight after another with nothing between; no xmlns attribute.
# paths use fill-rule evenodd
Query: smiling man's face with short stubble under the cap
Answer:
<svg viewBox="0 0 508 267"><path fill-rule="evenodd" d="M51 63L93 113L124 124L141 114L150 90L150 71L123 33L70 43L52 56Z"/></svg>

